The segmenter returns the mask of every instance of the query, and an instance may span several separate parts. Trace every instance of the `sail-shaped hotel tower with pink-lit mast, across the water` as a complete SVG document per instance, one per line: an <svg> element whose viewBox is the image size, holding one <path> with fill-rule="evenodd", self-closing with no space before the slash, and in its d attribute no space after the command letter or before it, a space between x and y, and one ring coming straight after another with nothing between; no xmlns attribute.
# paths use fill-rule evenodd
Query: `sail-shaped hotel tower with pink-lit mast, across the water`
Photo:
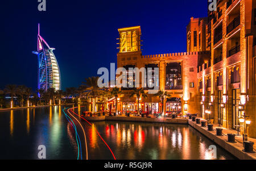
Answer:
<svg viewBox="0 0 256 171"><path fill-rule="evenodd" d="M48 90L61 89L60 68L53 53L55 48L50 48L46 41L40 36L38 24L38 51L32 53L38 55L38 89Z"/></svg>

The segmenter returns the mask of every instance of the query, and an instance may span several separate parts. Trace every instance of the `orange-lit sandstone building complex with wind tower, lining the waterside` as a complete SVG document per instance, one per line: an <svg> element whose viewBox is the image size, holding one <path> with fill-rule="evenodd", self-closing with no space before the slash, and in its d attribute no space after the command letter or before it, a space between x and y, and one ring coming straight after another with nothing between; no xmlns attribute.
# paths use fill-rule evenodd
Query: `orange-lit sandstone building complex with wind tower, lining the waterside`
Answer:
<svg viewBox="0 0 256 171"><path fill-rule="evenodd" d="M197 113L225 128L248 121L249 137L256 137L256 2L217 1L207 18L191 18L187 52L142 55L141 27L120 28L117 65L123 68L159 68L159 89L171 95L162 104L148 94L139 108L151 112ZM146 92L148 89L145 89ZM119 110L135 110L131 89L123 89ZM243 129L241 129L243 131Z"/></svg>

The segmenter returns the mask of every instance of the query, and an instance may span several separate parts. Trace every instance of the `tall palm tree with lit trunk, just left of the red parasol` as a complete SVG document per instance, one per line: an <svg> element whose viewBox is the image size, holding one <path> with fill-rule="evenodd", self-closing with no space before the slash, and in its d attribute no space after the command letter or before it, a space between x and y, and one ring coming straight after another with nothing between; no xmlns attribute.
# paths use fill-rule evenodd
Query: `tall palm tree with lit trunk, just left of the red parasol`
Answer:
<svg viewBox="0 0 256 171"><path fill-rule="evenodd" d="M85 95L88 97L93 98L93 113L94 113L94 107L96 106L96 98L100 95L100 87L98 87L98 77L89 77L85 78L86 82L82 82L85 84Z"/></svg>

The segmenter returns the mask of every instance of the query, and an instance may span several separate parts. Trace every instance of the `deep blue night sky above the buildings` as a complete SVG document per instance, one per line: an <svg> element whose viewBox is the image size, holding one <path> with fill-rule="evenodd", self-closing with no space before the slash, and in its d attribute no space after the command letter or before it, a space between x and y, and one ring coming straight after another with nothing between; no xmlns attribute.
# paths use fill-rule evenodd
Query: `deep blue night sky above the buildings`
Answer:
<svg viewBox="0 0 256 171"><path fill-rule="evenodd" d="M62 89L97 76L117 61L118 28L141 26L143 55L186 51L191 16L207 16L207 0L179 1L3 1L0 18L0 89L6 84L37 87L37 26L59 62Z"/></svg>

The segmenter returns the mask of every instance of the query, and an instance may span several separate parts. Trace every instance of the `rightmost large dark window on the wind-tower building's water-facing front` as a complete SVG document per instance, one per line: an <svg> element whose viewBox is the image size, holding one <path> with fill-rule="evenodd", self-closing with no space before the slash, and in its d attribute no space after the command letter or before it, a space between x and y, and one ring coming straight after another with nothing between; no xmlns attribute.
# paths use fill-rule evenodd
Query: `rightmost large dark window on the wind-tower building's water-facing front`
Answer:
<svg viewBox="0 0 256 171"><path fill-rule="evenodd" d="M181 64L172 62L166 65L166 90L182 89Z"/></svg>

